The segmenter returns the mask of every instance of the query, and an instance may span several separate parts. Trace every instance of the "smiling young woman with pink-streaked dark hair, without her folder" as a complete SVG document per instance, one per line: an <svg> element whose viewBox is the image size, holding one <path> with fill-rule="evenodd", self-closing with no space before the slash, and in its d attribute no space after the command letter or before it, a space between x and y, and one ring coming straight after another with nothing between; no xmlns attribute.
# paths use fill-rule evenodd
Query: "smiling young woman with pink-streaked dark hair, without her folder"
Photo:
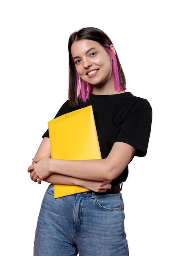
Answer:
<svg viewBox="0 0 170 256"><path fill-rule="evenodd" d="M112 41L100 29L71 34L69 90L55 117L92 105L102 159L51 159L48 130L28 168L31 180L51 183L35 233L34 256L128 256L121 184L128 164L145 156L152 109L126 92L126 79ZM89 189L54 198L53 184Z"/></svg>

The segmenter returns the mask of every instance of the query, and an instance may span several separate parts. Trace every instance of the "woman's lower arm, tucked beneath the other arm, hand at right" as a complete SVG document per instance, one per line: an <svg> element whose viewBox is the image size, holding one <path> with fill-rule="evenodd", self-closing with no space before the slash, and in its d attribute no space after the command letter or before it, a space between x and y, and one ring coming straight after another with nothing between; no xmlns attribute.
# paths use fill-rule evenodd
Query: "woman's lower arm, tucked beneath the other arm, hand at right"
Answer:
<svg viewBox="0 0 170 256"><path fill-rule="evenodd" d="M37 153L35 154L36 158L44 157L46 158L51 158L51 149L50 149L50 142L49 138L44 137L42 140L42 143L40 144L40 147L38 148ZM32 165L29 166L28 172L33 173L33 166L35 162L32 162ZM33 174L32 174L33 175ZM31 175L31 179L32 179ZM33 180L33 179L32 179ZM46 182L53 183L53 184L67 184L67 185L78 185L78 186L84 186L86 189L93 190L95 192L105 192L106 189L110 189L110 182L111 180L104 181L104 182L95 182L95 181L89 181L89 180L82 180L82 179L77 179L75 177L70 177L66 175L61 175L57 173L53 173L49 175L48 177L43 179ZM37 180L34 180L35 182ZM39 182L41 183L41 182Z"/></svg>

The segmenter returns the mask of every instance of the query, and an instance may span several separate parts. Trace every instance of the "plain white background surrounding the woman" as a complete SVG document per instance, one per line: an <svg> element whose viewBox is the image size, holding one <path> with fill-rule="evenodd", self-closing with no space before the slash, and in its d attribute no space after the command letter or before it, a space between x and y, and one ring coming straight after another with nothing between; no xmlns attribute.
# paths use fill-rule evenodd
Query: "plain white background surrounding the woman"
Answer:
<svg viewBox="0 0 170 256"><path fill-rule="evenodd" d="M68 37L82 27L108 34L127 91L152 106L148 154L132 161L123 186L125 228L130 256L169 255L168 10L168 0L0 1L0 255L33 255L48 184L32 182L27 168L67 99Z"/></svg>

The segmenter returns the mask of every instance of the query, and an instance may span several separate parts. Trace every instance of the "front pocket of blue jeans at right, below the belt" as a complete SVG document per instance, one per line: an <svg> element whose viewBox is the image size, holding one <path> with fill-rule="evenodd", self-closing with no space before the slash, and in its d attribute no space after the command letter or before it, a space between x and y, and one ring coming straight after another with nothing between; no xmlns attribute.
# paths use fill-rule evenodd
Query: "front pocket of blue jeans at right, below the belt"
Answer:
<svg viewBox="0 0 170 256"><path fill-rule="evenodd" d="M121 193L97 195L95 197L95 203L104 211L121 211L124 208Z"/></svg>

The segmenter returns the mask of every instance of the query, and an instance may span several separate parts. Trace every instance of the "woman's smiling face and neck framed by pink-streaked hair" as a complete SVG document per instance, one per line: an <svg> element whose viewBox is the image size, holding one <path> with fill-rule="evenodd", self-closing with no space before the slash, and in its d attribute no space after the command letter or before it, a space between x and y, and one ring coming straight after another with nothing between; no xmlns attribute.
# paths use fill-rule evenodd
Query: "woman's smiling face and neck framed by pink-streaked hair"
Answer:
<svg viewBox="0 0 170 256"><path fill-rule="evenodd" d="M77 73L81 79L93 85L94 94L115 92L111 57L102 45L93 40L78 40L71 46L71 54Z"/></svg>

